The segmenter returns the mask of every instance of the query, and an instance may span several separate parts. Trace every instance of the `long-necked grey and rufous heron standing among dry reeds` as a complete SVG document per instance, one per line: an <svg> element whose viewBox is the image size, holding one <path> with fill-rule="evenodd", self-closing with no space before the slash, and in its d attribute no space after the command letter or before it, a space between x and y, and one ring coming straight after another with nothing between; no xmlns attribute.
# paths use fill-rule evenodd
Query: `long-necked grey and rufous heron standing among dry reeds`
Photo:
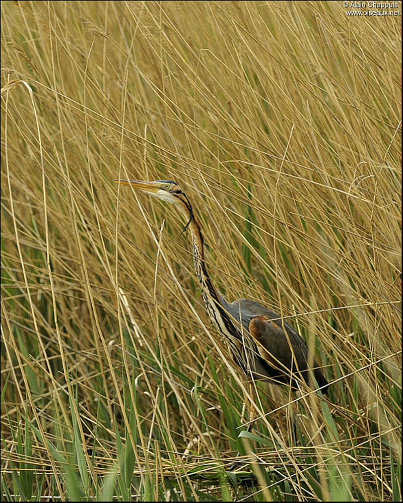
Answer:
<svg viewBox="0 0 403 503"><path fill-rule="evenodd" d="M115 180L163 201L174 203L185 216L193 240L193 261L203 300L209 316L226 340L235 362L251 380L270 380L277 384L289 384L298 388L298 380L309 381L308 363L312 362L315 380L323 393L327 393L327 381L318 364L308 356L308 347L296 330L275 312L253 300L239 299L228 302L218 292L209 275L204 258L203 234L193 214L189 200L172 181L143 182ZM283 326L287 332L284 332Z"/></svg>

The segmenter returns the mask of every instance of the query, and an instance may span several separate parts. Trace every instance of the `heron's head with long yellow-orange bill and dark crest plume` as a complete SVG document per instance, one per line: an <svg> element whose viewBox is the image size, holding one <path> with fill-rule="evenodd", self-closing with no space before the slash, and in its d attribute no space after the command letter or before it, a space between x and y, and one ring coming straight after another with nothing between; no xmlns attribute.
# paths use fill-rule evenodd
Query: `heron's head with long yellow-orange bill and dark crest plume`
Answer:
<svg viewBox="0 0 403 503"><path fill-rule="evenodd" d="M113 180L121 185L131 185L133 188L138 188L149 196L154 196L161 201L173 203L179 210L188 218L186 227L189 225L193 217L192 206L187 199L185 193L180 186L172 180L156 180L156 181L140 181L140 180ZM183 229L185 230L186 227ZM183 231L182 231L183 232Z"/></svg>

